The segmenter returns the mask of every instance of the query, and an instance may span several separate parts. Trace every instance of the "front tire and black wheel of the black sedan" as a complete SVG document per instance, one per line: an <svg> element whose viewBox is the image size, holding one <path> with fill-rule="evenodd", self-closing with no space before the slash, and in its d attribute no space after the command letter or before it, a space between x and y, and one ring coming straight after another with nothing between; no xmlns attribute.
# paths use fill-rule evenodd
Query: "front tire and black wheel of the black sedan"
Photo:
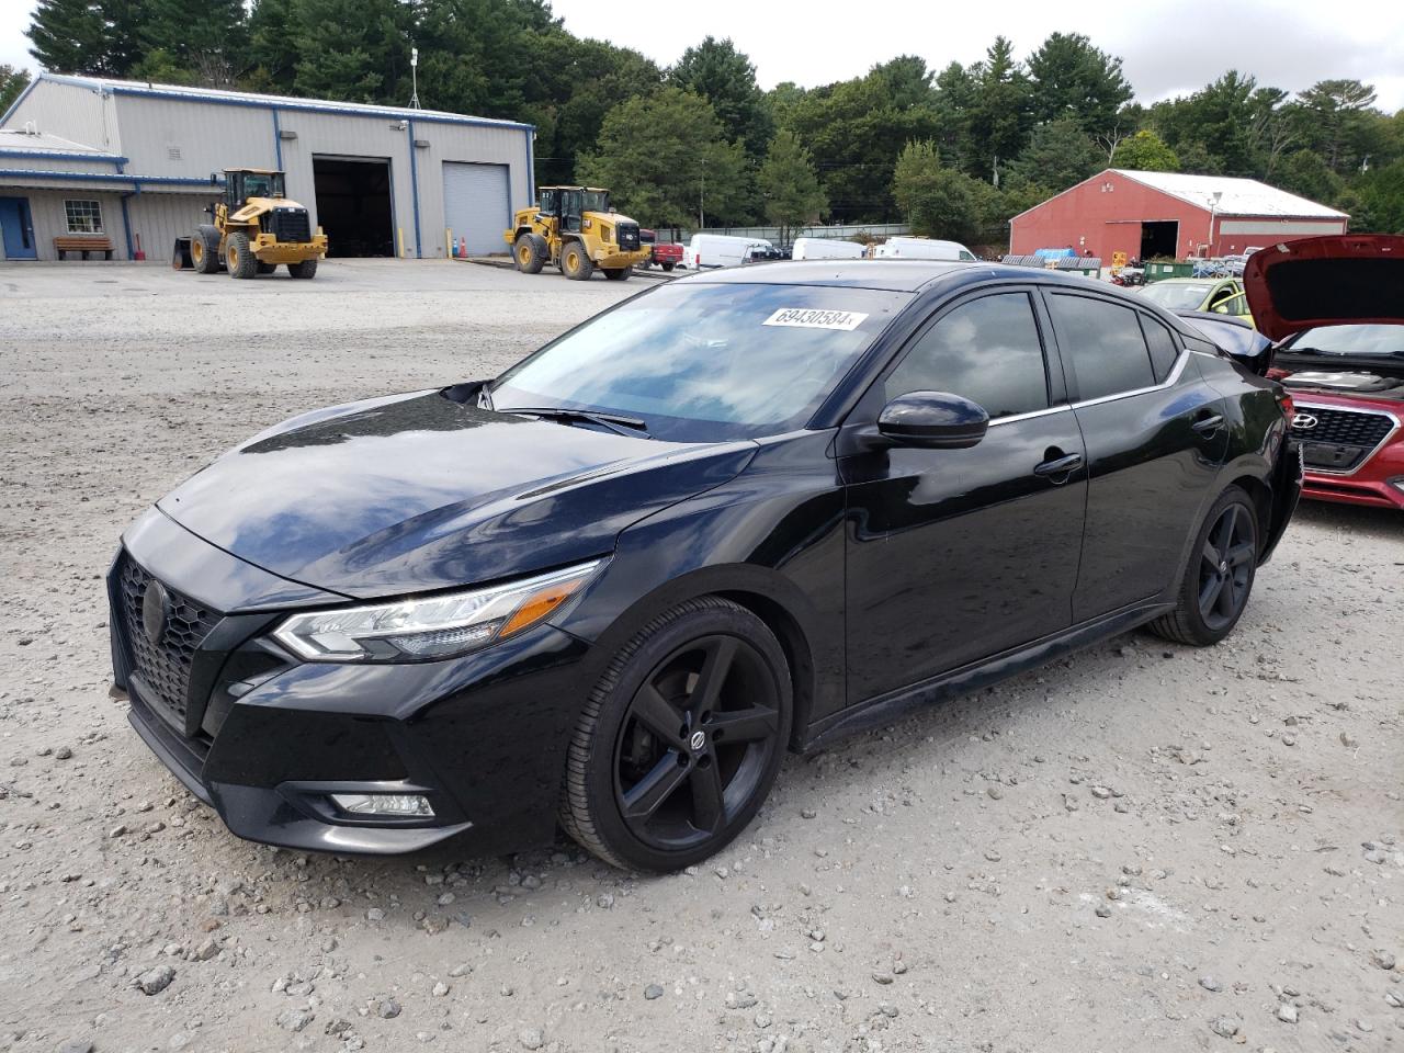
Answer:
<svg viewBox="0 0 1404 1053"><path fill-rule="evenodd" d="M765 623L720 597L654 618L609 663L570 741L560 821L623 869L668 872L740 834L775 782L792 684Z"/></svg>

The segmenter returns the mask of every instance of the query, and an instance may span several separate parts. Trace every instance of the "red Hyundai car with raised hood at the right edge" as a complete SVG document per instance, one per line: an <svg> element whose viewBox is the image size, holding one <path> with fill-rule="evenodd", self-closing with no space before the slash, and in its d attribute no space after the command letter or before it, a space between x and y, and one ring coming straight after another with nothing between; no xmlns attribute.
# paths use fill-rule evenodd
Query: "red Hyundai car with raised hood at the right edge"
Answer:
<svg viewBox="0 0 1404 1053"><path fill-rule="evenodd" d="M1275 244L1248 257L1244 288L1292 393L1302 496L1404 510L1404 237Z"/></svg>

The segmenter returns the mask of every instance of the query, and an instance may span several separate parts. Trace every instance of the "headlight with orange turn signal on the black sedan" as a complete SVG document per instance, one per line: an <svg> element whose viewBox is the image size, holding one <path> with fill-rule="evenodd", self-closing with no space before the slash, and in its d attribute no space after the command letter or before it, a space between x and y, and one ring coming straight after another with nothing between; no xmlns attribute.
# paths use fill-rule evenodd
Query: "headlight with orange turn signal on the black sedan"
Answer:
<svg viewBox="0 0 1404 1053"><path fill-rule="evenodd" d="M274 639L309 661L448 658L536 625L602 564L597 559L490 588L295 614Z"/></svg>

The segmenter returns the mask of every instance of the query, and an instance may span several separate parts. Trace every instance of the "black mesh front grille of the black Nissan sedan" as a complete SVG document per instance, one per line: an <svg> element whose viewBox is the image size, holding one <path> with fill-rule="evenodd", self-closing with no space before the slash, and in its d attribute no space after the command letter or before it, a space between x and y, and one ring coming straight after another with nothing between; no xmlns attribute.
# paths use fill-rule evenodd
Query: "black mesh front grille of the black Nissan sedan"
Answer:
<svg viewBox="0 0 1404 1053"><path fill-rule="evenodd" d="M181 733L187 731L190 673L195 651L219 622L219 615L166 588L166 626L153 643L142 623L142 604L154 578L131 556L122 555L121 618L132 671L147 688L147 702Z"/></svg>

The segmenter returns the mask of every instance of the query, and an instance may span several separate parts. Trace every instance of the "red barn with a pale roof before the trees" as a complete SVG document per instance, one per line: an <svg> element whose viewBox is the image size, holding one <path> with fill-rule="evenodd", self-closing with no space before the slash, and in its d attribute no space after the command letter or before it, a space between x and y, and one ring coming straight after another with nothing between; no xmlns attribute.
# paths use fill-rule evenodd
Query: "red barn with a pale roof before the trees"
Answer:
<svg viewBox="0 0 1404 1053"><path fill-rule="evenodd" d="M1283 237L1341 234L1349 216L1257 180L1108 168L1009 220L1009 251L1075 249L1106 263L1228 256Z"/></svg>

